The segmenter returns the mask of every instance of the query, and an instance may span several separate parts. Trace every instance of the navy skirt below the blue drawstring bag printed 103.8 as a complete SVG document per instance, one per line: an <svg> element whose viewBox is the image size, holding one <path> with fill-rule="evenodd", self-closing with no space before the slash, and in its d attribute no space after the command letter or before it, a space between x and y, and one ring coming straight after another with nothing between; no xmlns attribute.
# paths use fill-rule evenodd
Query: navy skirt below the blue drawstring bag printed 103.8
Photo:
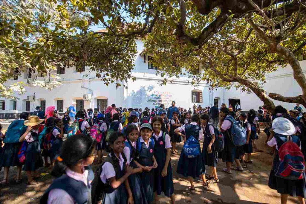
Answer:
<svg viewBox="0 0 306 204"><path fill-rule="evenodd" d="M205 173L205 166L202 163L202 154L198 155L196 158L188 158L182 151L177 163L176 172L185 177L191 176L194 179Z"/></svg>

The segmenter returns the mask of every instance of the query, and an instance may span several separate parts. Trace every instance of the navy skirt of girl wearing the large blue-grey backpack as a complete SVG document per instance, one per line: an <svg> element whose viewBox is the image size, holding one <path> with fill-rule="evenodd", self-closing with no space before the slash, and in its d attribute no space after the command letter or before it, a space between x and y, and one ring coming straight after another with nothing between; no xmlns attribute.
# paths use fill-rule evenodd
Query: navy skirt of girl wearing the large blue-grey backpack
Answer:
<svg viewBox="0 0 306 204"><path fill-rule="evenodd" d="M224 149L222 151L222 161L233 163L235 159L239 159L239 149L231 141L227 132L223 132L224 135Z"/></svg>

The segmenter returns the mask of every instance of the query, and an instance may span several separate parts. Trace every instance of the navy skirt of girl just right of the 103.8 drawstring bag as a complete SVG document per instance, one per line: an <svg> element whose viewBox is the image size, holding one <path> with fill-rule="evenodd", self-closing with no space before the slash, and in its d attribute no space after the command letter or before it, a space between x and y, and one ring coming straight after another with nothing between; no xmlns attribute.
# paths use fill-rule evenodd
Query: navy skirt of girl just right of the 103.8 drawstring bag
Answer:
<svg viewBox="0 0 306 204"><path fill-rule="evenodd" d="M211 145L211 153L209 154L207 152L207 147L211 142L211 138L205 136L204 142L203 142L203 149L202 149L202 160L203 160L203 166L212 166L217 167L218 164L218 152L215 149L214 144Z"/></svg>

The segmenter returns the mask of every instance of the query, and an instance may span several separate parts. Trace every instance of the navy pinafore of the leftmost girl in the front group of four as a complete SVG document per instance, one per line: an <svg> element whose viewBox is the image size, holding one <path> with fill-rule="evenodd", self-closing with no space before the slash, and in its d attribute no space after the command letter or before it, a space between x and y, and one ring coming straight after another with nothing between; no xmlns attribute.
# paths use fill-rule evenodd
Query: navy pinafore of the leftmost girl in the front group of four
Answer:
<svg viewBox="0 0 306 204"><path fill-rule="evenodd" d="M102 164L103 166L103 164ZM117 167L116 171L116 180L120 179L125 174L125 164L123 164L123 168L121 170L120 165ZM103 195L103 201L102 204L126 204L127 203L127 192L124 186L124 183L121 183L121 185L113 189L109 182L106 181L106 189L105 194Z"/></svg>

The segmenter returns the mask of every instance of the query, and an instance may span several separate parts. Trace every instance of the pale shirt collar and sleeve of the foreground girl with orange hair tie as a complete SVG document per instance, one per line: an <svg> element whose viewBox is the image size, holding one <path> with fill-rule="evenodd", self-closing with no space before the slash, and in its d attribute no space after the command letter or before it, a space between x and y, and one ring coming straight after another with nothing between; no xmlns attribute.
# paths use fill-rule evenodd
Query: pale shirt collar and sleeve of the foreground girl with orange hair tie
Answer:
<svg viewBox="0 0 306 204"><path fill-rule="evenodd" d="M71 171L69 168L66 169L67 176L82 181L87 186L88 170L84 170L83 174ZM55 188L49 192L47 204L75 204L72 196L70 196L63 189Z"/></svg>

